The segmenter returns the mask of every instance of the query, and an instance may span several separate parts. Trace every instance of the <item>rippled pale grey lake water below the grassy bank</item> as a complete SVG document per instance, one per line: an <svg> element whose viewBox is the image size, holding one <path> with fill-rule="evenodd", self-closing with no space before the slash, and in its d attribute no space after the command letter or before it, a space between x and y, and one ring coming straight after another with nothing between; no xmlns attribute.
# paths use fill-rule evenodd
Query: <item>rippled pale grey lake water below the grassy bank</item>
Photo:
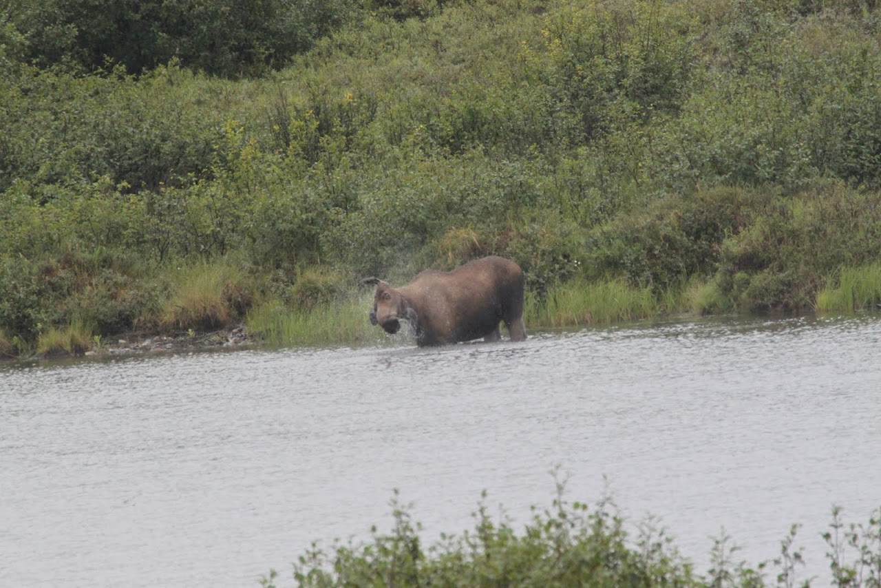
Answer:
<svg viewBox="0 0 881 588"><path fill-rule="evenodd" d="M881 320L0 365L0 585L287 579L312 540L388 529L394 488L431 541L482 490L522 524L555 466L701 571L722 528L754 563L802 523L825 584L833 503L881 505Z"/></svg>

